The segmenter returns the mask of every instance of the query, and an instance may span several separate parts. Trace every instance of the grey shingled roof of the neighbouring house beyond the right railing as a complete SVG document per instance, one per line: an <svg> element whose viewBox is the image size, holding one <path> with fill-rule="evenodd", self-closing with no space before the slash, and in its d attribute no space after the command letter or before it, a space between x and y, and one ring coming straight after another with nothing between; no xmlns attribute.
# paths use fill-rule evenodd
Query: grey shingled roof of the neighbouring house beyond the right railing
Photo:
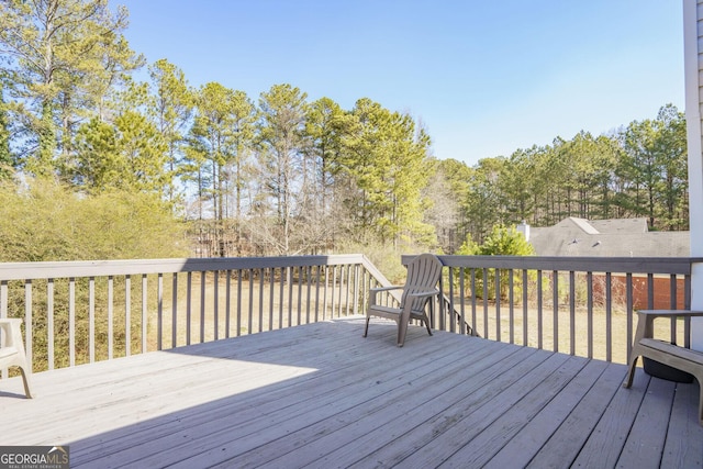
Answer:
<svg viewBox="0 0 703 469"><path fill-rule="evenodd" d="M531 227L538 256L689 257L689 232L648 232L646 219L584 220L570 216Z"/></svg>

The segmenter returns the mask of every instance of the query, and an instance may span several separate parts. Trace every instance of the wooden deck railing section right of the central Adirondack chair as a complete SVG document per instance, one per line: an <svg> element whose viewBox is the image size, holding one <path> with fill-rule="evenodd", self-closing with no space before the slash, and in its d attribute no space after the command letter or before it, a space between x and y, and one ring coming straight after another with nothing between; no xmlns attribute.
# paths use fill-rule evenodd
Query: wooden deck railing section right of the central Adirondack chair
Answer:
<svg viewBox="0 0 703 469"><path fill-rule="evenodd" d="M689 309L690 258L439 256L445 309L435 328L626 362L637 309ZM403 256L408 264L412 256ZM468 326L472 326L469 331ZM657 325L688 347L688 322Z"/></svg>

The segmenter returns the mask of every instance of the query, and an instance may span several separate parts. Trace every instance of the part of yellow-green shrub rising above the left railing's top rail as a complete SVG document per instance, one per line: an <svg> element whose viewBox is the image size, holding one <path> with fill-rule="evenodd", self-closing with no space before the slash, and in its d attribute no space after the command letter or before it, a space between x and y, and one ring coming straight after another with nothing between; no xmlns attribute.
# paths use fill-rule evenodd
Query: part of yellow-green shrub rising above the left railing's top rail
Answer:
<svg viewBox="0 0 703 469"><path fill-rule="evenodd" d="M0 261L181 257L182 226L153 194L76 194L44 180L0 186Z"/></svg>

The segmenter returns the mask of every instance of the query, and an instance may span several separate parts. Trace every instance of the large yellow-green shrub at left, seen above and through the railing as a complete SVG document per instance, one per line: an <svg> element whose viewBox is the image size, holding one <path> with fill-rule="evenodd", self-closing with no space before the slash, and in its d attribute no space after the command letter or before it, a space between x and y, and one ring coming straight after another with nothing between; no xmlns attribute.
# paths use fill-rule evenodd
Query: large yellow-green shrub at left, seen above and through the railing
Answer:
<svg viewBox="0 0 703 469"><path fill-rule="evenodd" d="M0 186L0 261L96 260L182 257L187 255L181 223L169 208L149 193L126 191L83 196L53 181L31 180L25 187ZM115 279L115 297L124 294ZM10 316L23 317L26 305L21 281L11 282ZM15 284L16 283L16 284ZM77 362L88 360L88 280L75 282ZM32 286L34 369L48 367L47 280ZM136 294L136 292L133 292ZM96 280L96 344L98 358L107 355L107 280ZM124 301L118 301L124 304ZM115 350L125 348L124 311L115 311ZM54 347L56 366L68 364L68 280L54 282ZM132 343L141 339L132 321Z"/></svg>

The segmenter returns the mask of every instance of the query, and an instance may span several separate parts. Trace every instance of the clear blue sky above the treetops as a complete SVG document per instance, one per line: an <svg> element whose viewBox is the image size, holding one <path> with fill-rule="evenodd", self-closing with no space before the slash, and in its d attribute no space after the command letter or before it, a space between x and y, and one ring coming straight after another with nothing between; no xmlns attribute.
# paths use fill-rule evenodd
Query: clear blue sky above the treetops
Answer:
<svg viewBox="0 0 703 469"><path fill-rule="evenodd" d="M437 158L517 148L683 111L680 0L116 0L125 36L191 86L254 101L290 83L421 121Z"/></svg>

